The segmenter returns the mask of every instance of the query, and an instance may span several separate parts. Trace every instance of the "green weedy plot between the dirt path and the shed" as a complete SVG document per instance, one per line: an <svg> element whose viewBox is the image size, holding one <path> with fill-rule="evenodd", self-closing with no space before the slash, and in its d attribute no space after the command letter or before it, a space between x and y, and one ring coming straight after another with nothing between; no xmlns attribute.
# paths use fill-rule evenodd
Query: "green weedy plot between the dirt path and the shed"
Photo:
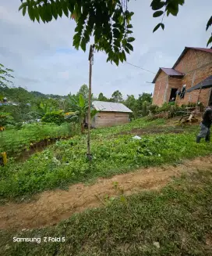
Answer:
<svg viewBox="0 0 212 256"><path fill-rule="evenodd" d="M159 124L157 124L159 123ZM91 182L136 168L175 164L187 158L211 153L212 145L196 144L195 131L182 134L117 135L117 131L132 127L156 128L164 121L145 119L119 128L92 132L92 164L87 161L87 136L76 136L56 142L42 153L35 153L24 163L10 162L0 172L0 199L30 197L34 193L57 187L65 188L76 182ZM133 126L134 125L134 126Z"/></svg>

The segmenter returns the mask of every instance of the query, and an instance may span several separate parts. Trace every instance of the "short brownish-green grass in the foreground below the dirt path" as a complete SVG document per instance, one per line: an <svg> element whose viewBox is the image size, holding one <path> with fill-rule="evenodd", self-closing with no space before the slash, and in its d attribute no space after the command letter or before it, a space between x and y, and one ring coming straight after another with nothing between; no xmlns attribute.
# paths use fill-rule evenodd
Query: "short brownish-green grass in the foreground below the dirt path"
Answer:
<svg viewBox="0 0 212 256"><path fill-rule="evenodd" d="M0 231L2 255L210 256L212 169L186 175L161 191L139 193L73 215L44 229ZM65 237L44 243L44 237ZM13 243L40 237L41 243Z"/></svg>

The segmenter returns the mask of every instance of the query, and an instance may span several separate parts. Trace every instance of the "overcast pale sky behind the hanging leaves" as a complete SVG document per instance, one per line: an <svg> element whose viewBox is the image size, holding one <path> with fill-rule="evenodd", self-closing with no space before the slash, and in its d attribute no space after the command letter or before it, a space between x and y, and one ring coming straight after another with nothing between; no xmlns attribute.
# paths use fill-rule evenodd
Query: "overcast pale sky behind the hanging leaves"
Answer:
<svg viewBox="0 0 212 256"><path fill-rule="evenodd" d="M152 17L150 0L131 0L134 52L127 61L157 72L172 67L185 46L206 47L211 30L211 0L185 0L177 17L165 17L165 30L152 33L161 18ZM0 63L15 70L14 84L29 91L66 95L88 84L88 52L72 47L75 21L66 16L51 23L33 23L18 12L19 0L0 0ZM87 47L89 49L89 47ZM111 96L115 90L123 96L153 92L154 74L121 63L106 63L102 52L94 55L93 92Z"/></svg>

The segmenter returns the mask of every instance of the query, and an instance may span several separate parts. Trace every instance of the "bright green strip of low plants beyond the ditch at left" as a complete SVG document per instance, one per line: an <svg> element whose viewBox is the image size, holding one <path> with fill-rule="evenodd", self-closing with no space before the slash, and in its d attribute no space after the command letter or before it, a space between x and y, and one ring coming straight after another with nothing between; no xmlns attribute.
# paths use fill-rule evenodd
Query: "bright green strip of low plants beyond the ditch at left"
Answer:
<svg viewBox="0 0 212 256"><path fill-rule="evenodd" d="M22 129L8 129L0 138L0 152L6 152L9 156L27 150L31 143L40 142L43 139L60 138L72 135L70 124L26 124Z"/></svg>

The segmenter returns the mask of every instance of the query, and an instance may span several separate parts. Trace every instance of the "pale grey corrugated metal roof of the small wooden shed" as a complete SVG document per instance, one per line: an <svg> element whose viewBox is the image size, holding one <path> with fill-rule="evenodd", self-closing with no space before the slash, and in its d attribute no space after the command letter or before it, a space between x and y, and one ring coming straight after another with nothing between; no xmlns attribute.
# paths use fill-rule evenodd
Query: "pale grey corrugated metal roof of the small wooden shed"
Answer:
<svg viewBox="0 0 212 256"><path fill-rule="evenodd" d="M104 111L104 112L125 112L125 113L132 113L132 110L129 110L122 103L110 103L105 101L94 101L92 103L95 110Z"/></svg>

